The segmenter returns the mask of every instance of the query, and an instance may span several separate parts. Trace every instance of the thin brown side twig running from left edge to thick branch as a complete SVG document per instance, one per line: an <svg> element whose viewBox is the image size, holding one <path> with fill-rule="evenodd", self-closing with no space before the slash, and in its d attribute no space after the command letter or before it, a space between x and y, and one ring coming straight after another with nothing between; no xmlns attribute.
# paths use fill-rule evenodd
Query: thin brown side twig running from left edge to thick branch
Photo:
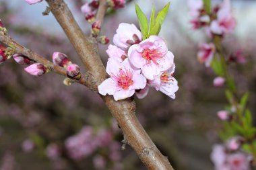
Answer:
<svg viewBox="0 0 256 170"><path fill-rule="evenodd" d="M30 58L30 60L39 62L40 64L49 67L51 69L51 71L54 71L55 73L58 73L59 75L63 75L65 77L67 77L67 70L65 68L60 67L58 65L54 65L53 62L47 60L43 56L40 56L39 54L37 54L34 51L29 50L28 48L22 46L21 44L18 44L18 42L15 42L15 40L10 38L9 36L0 35L0 41L3 42L3 44L6 44L7 46L9 46L11 48L14 48L17 53L27 56L28 58ZM71 77L69 77L69 78L72 79ZM87 87L89 87L89 89L92 89L92 87L94 86L93 85L94 81L92 81L90 79L90 76L88 76L88 75L82 75L81 79L79 79L79 80L73 79L73 81L80 83L82 85L86 85Z"/></svg>

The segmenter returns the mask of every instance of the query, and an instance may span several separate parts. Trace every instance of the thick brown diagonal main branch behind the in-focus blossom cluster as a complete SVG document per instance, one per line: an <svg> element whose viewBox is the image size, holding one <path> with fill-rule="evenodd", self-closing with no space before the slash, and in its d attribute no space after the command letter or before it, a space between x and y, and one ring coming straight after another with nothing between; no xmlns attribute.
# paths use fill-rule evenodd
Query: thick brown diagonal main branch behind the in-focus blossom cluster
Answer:
<svg viewBox="0 0 256 170"><path fill-rule="evenodd" d="M106 79L106 71L98 54L98 47L94 39L84 36L81 28L75 22L73 15L63 0L46 0L55 18L63 28L65 34L82 58L84 65L94 77L94 89ZM136 151L141 161L148 169L172 170L168 159L164 157L135 116L135 101L124 99L115 101L113 96L102 96L110 112L116 118L126 136L127 143Z"/></svg>

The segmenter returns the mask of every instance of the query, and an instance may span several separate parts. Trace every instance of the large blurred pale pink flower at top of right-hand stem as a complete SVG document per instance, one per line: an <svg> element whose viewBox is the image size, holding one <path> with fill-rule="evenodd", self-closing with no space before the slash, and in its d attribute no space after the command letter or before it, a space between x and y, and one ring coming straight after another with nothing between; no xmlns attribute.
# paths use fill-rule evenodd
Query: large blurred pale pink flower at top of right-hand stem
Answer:
<svg viewBox="0 0 256 170"><path fill-rule="evenodd" d="M234 30L236 20L234 19L231 9L230 0L225 0L217 12L217 19L210 26L212 32L218 35L224 35Z"/></svg>

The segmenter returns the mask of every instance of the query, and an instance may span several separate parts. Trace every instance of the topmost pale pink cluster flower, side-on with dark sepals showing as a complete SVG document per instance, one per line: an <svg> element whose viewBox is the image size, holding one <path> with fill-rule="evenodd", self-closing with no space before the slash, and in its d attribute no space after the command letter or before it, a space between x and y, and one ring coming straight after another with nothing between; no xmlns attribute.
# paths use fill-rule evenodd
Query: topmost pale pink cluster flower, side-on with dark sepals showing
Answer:
<svg viewBox="0 0 256 170"><path fill-rule="evenodd" d="M122 50L127 51L133 44L139 44L142 40L141 32L133 24L121 23L114 35L113 42Z"/></svg>

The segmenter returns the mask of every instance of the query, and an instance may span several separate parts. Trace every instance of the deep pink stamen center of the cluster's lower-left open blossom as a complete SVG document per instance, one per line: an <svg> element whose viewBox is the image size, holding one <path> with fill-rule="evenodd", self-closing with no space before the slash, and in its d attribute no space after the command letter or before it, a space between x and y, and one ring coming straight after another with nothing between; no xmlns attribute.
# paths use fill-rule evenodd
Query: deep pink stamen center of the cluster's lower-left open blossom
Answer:
<svg viewBox="0 0 256 170"><path fill-rule="evenodd" d="M111 74L111 77L117 82L117 85L126 90L133 85L133 71L128 69L119 69L117 75Z"/></svg>

